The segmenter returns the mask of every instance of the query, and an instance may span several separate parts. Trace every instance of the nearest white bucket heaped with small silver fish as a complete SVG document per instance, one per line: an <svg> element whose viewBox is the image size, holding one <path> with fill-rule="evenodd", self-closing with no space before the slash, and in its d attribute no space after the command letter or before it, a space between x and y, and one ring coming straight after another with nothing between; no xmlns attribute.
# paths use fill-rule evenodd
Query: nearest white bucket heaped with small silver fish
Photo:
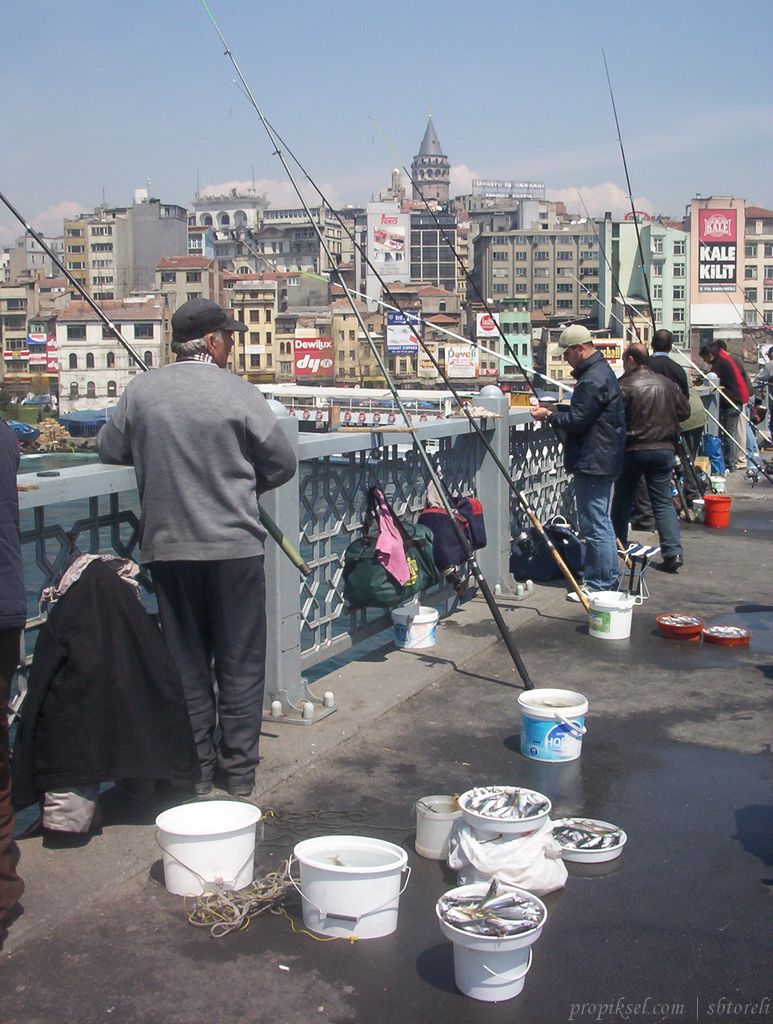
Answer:
<svg viewBox="0 0 773 1024"><path fill-rule="evenodd" d="M518 995L531 967L530 947L548 918L543 901L495 880L449 890L435 912L454 944L457 988L486 1002Z"/></svg>

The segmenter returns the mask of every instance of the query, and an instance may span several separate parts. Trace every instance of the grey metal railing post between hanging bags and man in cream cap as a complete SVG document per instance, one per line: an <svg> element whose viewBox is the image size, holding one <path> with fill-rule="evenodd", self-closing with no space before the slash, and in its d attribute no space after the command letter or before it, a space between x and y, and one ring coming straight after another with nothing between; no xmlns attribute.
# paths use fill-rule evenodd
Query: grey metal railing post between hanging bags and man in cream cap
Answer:
<svg viewBox="0 0 773 1024"><path fill-rule="evenodd" d="M489 409L496 418L482 420L488 442L503 466L510 465L510 402L495 385L487 385L475 396L475 404ZM481 445L482 447L482 445ZM510 488L489 453L482 458L475 476L475 495L483 503L486 540L478 552L478 564L492 591L513 590L510 577Z"/></svg>

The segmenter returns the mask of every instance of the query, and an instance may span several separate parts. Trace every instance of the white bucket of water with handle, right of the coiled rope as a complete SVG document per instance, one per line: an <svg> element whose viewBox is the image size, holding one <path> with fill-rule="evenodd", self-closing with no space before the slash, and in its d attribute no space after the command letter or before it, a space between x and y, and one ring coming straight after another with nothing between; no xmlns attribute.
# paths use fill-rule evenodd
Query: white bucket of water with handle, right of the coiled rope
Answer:
<svg viewBox="0 0 773 1024"><path fill-rule="evenodd" d="M293 884L310 931L378 939L397 928L399 899L411 878L400 847L362 836L320 836L298 843L293 854L300 864L300 888Z"/></svg>

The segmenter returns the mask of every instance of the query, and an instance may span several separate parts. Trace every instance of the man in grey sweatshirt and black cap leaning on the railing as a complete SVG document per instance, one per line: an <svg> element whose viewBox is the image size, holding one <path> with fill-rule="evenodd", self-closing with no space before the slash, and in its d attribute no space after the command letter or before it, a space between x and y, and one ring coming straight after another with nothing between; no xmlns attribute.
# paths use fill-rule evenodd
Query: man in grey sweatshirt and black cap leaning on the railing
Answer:
<svg viewBox="0 0 773 1024"><path fill-rule="evenodd" d="M182 676L202 796L215 781L237 797L254 785L266 630L258 499L296 470L260 391L222 373L246 329L214 302L185 302L172 316L177 361L131 381L97 438L102 462L136 472L140 561Z"/></svg>

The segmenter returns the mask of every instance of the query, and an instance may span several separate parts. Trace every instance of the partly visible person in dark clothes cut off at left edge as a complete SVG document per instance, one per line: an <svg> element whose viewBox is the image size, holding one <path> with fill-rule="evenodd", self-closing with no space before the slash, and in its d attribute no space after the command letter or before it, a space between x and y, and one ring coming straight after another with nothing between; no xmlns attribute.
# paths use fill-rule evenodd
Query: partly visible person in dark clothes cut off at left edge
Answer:
<svg viewBox="0 0 773 1024"><path fill-rule="evenodd" d="M16 472L18 442L0 420L0 946L25 885L16 873L8 750L8 699L18 665L19 637L27 622L27 595L18 536Z"/></svg>

